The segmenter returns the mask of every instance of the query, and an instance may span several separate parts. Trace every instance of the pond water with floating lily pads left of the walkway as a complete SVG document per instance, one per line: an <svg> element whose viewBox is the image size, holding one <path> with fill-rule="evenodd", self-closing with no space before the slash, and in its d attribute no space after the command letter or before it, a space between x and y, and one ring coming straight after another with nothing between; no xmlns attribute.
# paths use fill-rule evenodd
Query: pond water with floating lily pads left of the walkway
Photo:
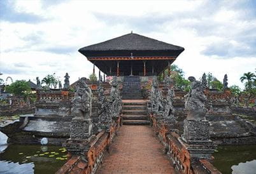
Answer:
<svg viewBox="0 0 256 174"><path fill-rule="evenodd" d="M0 173L55 173L66 155L59 146L8 145L0 154Z"/></svg>

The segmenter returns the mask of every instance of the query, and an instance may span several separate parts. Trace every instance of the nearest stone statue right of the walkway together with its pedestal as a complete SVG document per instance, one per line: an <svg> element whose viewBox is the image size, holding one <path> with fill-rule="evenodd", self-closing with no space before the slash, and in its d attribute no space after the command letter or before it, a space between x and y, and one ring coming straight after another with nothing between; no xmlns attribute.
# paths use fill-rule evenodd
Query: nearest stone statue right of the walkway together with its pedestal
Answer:
<svg viewBox="0 0 256 174"><path fill-rule="evenodd" d="M206 102L204 95L205 86L196 81L195 77L188 77L191 82L191 91L186 95L185 110L188 111L187 119L184 120L184 131L181 136L183 144L193 160L211 159L215 151L215 144L210 140L210 123L206 120Z"/></svg>

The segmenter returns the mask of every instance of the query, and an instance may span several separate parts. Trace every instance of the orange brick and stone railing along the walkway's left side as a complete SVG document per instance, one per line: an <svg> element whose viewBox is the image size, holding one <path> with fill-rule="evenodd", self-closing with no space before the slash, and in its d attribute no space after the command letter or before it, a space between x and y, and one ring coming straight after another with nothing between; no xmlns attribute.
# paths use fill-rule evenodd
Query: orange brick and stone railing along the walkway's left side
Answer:
<svg viewBox="0 0 256 174"><path fill-rule="evenodd" d="M89 150L85 154L86 160L83 159L83 156L72 156L71 152L68 152L68 162L56 173L95 173L106 152L108 152L112 139L115 137L121 124L121 116L119 116L111 126L110 131L101 131L92 138Z"/></svg>

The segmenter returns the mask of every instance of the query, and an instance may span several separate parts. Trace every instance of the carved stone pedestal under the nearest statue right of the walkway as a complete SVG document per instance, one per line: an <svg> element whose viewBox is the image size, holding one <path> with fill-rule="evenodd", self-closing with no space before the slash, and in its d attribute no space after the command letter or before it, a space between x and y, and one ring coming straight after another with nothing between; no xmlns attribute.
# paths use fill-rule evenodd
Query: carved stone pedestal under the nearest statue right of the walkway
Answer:
<svg viewBox="0 0 256 174"><path fill-rule="evenodd" d="M210 140L209 121L184 120L184 133L180 140L192 158L211 159L216 145Z"/></svg>

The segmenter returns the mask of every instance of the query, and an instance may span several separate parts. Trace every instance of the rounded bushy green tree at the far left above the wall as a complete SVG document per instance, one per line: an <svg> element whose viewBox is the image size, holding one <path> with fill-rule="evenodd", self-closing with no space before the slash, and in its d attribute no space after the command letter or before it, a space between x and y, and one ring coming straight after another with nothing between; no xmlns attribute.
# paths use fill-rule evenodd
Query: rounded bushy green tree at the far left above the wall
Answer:
<svg viewBox="0 0 256 174"><path fill-rule="evenodd" d="M6 86L5 90L8 93L22 97L27 97L27 95L31 93L29 83L25 80L15 81L11 83L10 86Z"/></svg>

